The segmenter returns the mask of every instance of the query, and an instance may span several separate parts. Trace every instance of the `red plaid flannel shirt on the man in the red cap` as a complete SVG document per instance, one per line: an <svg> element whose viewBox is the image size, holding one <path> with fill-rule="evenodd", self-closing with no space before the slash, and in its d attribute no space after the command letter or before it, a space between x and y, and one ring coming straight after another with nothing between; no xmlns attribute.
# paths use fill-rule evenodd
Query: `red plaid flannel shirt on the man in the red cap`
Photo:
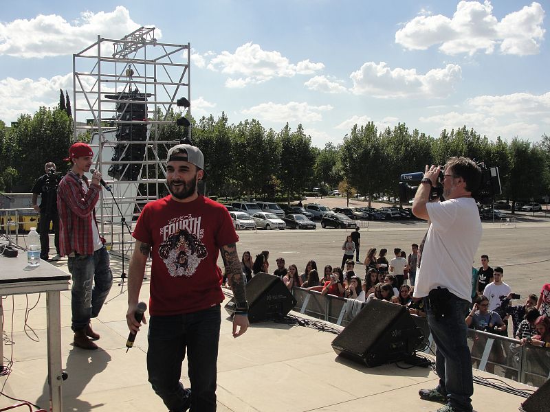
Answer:
<svg viewBox="0 0 550 412"><path fill-rule="evenodd" d="M87 192L82 182L88 187ZM98 203L100 187L90 185L86 176L78 176L72 170L61 179L57 187L59 214L59 253L80 255L94 254L94 238L91 225L98 225L94 207ZM101 238L104 243L105 240Z"/></svg>

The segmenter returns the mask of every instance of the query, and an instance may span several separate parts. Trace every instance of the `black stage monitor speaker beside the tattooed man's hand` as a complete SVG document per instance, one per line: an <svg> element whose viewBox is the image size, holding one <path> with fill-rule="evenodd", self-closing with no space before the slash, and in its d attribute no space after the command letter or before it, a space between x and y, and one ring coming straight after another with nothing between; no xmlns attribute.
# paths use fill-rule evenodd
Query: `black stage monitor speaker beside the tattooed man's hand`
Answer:
<svg viewBox="0 0 550 412"><path fill-rule="evenodd" d="M246 298L250 323L283 317L296 306L296 299L281 278L268 273L257 273L250 279L246 284ZM233 298L225 305L228 314L234 314L235 304Z"/></svg>

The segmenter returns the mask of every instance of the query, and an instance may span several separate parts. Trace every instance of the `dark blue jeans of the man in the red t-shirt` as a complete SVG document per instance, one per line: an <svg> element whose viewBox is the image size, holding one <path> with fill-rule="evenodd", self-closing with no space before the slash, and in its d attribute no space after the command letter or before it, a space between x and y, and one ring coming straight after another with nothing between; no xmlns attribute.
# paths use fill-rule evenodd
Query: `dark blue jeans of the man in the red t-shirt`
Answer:
<svg viewBox="0 0 550 412"><path fill-rule="evenodd" d="M148 329L149 382L170 411L184 411L181 363L187 350L190 411L216 411L220 305L199 312L151 316Z"/></svg>

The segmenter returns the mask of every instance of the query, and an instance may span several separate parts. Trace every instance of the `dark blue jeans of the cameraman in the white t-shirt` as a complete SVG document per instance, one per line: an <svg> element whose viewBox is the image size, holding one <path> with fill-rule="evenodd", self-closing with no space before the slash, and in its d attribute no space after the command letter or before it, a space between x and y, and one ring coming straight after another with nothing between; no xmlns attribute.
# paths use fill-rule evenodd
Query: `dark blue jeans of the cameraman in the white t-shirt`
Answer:
<svg viewBox="0 0 550 412"><path fill-rule="evenodd" d="M456 411L471 412L474 382L465 322L470 302L450 294L448 305L448 316L436 319L428 297L424 297L428 325L437 345L435 370L439 376L438 390L447 395L448 403Z"/></svg>

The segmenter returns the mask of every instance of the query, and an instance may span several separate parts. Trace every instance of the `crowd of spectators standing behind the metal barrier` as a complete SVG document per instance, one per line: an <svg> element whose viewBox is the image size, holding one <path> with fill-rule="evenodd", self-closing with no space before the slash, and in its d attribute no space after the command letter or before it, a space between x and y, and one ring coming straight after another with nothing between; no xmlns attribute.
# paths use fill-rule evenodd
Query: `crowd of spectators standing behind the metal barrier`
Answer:
<svg viewBox="0 0 550 412"><path fill-rule="evenodd" d="M378 253L376 248L368 249L363 262L365 275L361 278L355 268L353 242L351 236L347 236L342 245L344 259L340 267L327 264L320 274L316 261L309 260L300 273L296 264L287 266L285 259L279 257L273 275L280 277L289 290L294 287L305 288L316 290L322 295L361 302L386 300L406 306L411 314L426 317L423 299L412 297L419 257L418 244L411 245L408 255L400 248L395 248L395 258L390 262L386 258L387 249L380 249ZM268 259L269 251L262 251L254 259L250 251L243 253L241 267L246 282L250 282L256 273L270 273ZM550 347L550 284L544 284L539 295L531 293L524 303L513 305L512 301L520 299L520 296L512 293L503 278L504 269L500 266L492 268L489 266L489 256L481 255L481 266L472 267L472 306L470 312L465 314L468 327L509 335L518 339L521 345ZM480 350L483 350L483 345L474 342L472 355L476 356L476 351ZM503 361L505 351L500 354L494 352L497 353L492 355L493 360Z"/></svg>

